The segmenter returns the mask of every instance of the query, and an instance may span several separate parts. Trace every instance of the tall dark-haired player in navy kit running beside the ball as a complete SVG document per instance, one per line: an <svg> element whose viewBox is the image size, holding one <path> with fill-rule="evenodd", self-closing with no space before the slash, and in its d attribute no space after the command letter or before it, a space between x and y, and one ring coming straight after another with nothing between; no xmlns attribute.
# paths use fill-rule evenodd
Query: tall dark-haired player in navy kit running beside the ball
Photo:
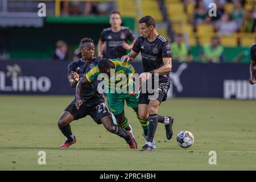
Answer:
<svg viewBox="0 0 256 182"><path fill-rule="evenodd" d="M172 138L172 123L174 118L158 115L158 108L162 101L166 100L168 89L170 88L169 73L172 69L172 54L170 43L155 30L155 20L151 16L143 16L139 20L141 36L135 41L131 52L122 57L122 61L132 61L138 55L142 54L144 73L140 75L142 84L145 84L152 76L152 85L154 85L155 74L159 75L158 97L149 99L152 96L146 90L146 93L139 94L139 117L150 122L148 126L147 141L141 151L151 151L152 141L155 136L158 122L164 123L166 127L167 139Z"/></svg>

